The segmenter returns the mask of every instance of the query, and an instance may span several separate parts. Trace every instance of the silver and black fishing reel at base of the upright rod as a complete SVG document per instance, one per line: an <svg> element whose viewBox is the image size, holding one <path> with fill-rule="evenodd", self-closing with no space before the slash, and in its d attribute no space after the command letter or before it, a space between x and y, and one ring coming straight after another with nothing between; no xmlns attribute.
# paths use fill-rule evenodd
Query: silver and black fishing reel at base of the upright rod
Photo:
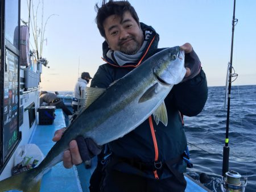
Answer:
<svg viewBox="0 0 256 192"><path fill-rule="evenodd" d="M209 177L205 173L200 174L201 183L209 183L213 181L213 190L217 192L215 182L220 184L222 192L244 192L247 185L247 177L241 177L241 175L233 170L226 172L226 177L215 178Z"/></svg>

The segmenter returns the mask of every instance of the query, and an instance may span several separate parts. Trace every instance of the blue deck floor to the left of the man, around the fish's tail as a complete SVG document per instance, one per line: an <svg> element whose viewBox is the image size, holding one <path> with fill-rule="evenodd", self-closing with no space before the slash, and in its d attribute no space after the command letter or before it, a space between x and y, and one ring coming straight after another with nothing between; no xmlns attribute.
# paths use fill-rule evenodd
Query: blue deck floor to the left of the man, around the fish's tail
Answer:
<svg viewBox="0 0 256 192"><path fill-rule="evenodd" d="M48 151L55 144L52 141L54 132L60 128L66 127L62 110L56 109L55 114L56 118L53 124L49 126L38 125L30 140L30 143L38 145L44 155L47 155ZM43 176L40 191L82 191L76 168L65 169L62 162L53 166L53 168Z"/></svg>

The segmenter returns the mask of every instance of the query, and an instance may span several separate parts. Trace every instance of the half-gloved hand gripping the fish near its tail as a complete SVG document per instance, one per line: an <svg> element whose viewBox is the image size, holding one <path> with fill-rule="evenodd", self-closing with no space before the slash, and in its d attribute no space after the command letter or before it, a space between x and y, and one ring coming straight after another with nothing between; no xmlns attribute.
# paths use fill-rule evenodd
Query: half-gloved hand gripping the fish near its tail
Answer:
<svg viewBox="0 0 256 192"><path fill-rule="evenodd" d="M64 131L65 128L57 130L52 140L59 141ZM84 139L84 137L78 136L76 140L72 140L69 143L69 150L64 151L63 165L65 168L70 169L73 165L79 165L82 161L90 160L100 152L101 148L92 139Z"/></svg>

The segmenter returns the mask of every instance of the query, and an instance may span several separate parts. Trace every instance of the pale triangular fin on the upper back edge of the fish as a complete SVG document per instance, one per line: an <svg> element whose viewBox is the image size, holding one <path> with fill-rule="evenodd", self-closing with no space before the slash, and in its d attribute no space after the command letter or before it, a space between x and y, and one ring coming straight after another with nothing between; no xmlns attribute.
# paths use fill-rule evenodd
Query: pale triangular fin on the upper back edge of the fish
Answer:
<svg viewBox="0 0 256 192"><path fill-rule="evenodd" d="M89 107L105 90L98 87L85 87L85 108Z"/></svg>

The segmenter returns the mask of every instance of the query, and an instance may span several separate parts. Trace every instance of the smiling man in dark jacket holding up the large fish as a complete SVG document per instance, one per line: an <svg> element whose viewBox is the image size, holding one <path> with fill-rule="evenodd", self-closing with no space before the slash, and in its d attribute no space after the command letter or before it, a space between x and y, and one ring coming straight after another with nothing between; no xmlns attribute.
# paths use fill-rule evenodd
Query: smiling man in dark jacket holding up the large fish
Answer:
<svg viewBox="0 0 256 192"><path fill-rule="evenodd" d="M96 5L96 9L97 26L105 38L102 48L106 64L98 68L91 86L106 88L163 48L158 48L159 35L154 28L139 22L129 2L104 1L101 7ZM201 112L208 89L200 60L191 44L186 43L180 48L185 51L187 73L183 82L175 85L164 100L167 127L161 123L156 125L150 117L134 131L108 143L112 155L103 166L100 191L185 190L183 173L189 162L183 158L187 158L187 140L182 116L195 116ZM62 132L57 131L53 140L59 140ZM92 140L87 139L86 144L81 144L82 140L71 141L70 151L64 152L65 168L80 164L85 153L87 158L98 153ZM98 191L93 182L91 180L90 190Z"/></svg>

